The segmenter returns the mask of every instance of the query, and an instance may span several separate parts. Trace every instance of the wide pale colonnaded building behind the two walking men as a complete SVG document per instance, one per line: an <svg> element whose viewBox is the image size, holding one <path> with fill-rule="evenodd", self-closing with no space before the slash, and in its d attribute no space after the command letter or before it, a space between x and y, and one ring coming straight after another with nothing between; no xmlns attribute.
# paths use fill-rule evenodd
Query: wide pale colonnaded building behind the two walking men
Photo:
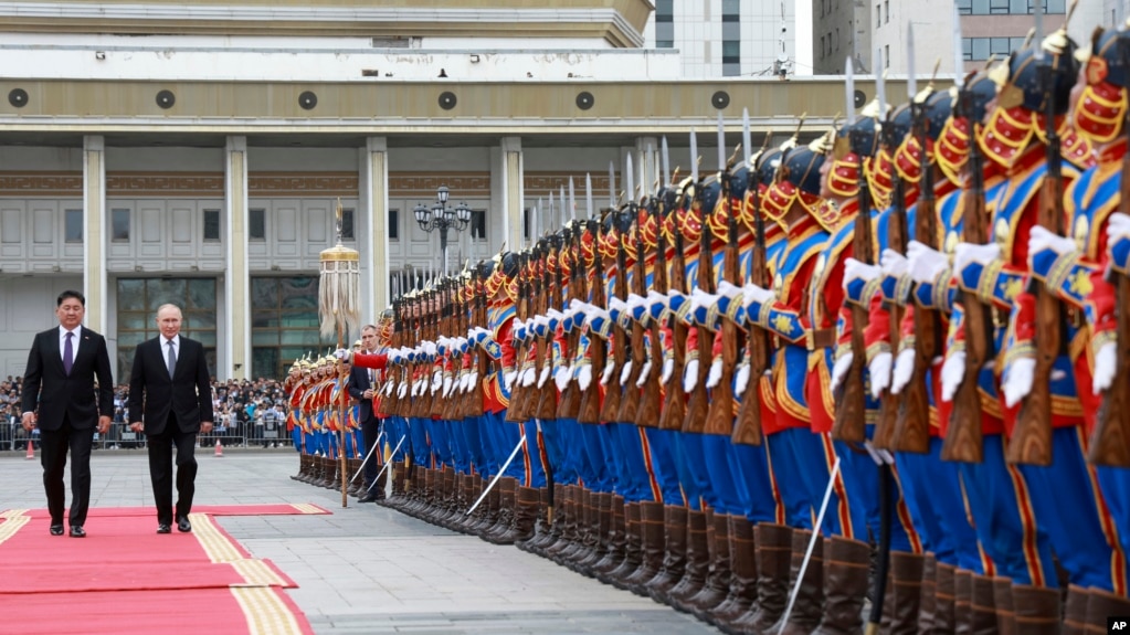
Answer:
<svg viewBox="0 0 1130 635"><path fill-rule="evenodd" d="M744 108L760 145L846 107L840 78L681 77L679 50L644 46L649 0L529 5L0 2L2 369L23 373L55 296L77 288L115 381L166 302L217 377L280 376L329 345L318 268L339 201L371 319L444 266L414 211L441 185L470 210L449 232L460 267L559 225L571 179L579 215L585 175L607 207L628 155L652 188L664 136L687 174L695 130L709 173L720 114L729 154ZM871 86L859 78L857 107Z"/></svg>

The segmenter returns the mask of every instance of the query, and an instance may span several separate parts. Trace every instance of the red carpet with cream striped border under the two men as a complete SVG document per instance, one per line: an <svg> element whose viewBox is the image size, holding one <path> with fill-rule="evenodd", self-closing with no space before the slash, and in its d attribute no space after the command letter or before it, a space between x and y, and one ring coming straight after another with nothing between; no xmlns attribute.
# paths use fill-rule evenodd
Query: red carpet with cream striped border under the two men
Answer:
<svg viewBox="0 0 1130 635"><path fill-rule="evenodd" d="M192 532L157 534L151 507L90 510L87 538L53 537L45 510L0 513L5 633L311 633L281 591L295 583L255 559L214 515L328 514L313 505L202 506ZM139 610L144 607L144 610ZM175 628L174 628L175 630Z"/></svg>

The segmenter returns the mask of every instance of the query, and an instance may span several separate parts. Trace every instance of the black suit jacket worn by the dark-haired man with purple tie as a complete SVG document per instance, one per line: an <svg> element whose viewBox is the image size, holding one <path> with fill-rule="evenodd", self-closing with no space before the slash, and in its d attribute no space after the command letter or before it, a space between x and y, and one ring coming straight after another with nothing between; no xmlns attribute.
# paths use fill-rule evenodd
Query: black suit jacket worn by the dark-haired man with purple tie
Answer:
<svg viewBox="0 0 1130 635"><path fill-rule="evenodd" d="M32 341L24 371L23 407L25 412L38 409L40 429L61 428L63 415L76 429L95 427L99 415L114 415L114 379L106 339L86 327L79 328L78 337L70 376L63 372L59 354L59 327L36 333Z"/></svg>

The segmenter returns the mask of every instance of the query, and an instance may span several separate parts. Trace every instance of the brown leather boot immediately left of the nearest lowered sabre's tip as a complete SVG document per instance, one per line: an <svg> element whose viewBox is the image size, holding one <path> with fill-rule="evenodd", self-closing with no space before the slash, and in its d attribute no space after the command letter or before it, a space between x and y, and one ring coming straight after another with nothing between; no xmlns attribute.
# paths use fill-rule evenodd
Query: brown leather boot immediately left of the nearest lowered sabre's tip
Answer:
<svg viewBox="0 0 1130 635"><path fill-rule="evenodd" d="M789 602L792 528L758 523L754 542L757 543L757 603L732 623L719 625L730 635L767 632L781 619Z"/></svg>

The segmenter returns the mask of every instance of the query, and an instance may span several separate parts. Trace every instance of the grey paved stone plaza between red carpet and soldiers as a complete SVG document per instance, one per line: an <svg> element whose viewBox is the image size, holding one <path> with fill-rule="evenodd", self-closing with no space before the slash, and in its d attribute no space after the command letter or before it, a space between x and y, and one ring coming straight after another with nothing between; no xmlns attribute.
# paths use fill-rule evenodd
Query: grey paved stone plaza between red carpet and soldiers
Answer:
<svg viewBox="0 0 1130 635"><path fill-rule="evenodd" d="M0 510L46 506L37 459L0 455ZM202 451L198 461L199 505L313 503L333 512L216 519L253 556L273 560L298 584L290 597L315 633L718 633L514 547L353 498L342 508L340 493L288 478L298 468L289 451L228 451L223 458ZM92 507L153 505L144 452L95 452L92 471ZM154 529L156 522L155 512ZM97 534L97 519L86 529Z"/></svg>

